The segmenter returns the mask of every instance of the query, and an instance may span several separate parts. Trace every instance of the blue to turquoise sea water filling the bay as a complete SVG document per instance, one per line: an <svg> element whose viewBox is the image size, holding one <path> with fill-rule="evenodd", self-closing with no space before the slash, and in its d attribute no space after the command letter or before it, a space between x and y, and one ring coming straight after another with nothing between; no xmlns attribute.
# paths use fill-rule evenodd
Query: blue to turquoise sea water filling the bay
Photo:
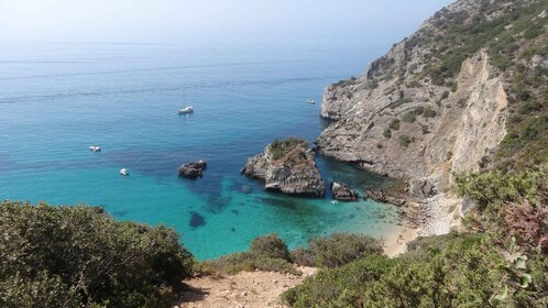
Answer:
<svg viewBox="0 0 548 308"><path fill-rule="evenodd" d="M0 199L85 202L118 219L164 223L201 260L246 250L270 232L293 248L336 231L382 237L396 222L391 206L266 194L239 174L274 139L311 143L326 124L325 86L361 74L381 52L2 43ZM184 87L195 113L177 116ZM196 158L208 161L204 178L178 178L177 166ZM360 191L386 185L317 162L326 182Z"/></svg>

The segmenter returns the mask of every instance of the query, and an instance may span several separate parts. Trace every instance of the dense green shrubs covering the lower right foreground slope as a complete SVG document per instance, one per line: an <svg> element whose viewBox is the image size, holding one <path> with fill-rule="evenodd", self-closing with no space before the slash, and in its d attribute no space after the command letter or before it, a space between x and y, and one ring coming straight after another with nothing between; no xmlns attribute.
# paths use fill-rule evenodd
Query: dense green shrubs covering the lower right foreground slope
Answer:
<svg viewBox="0 0 548 308"><path fill-rule="evenodd" d="M467 232L426 238L320 271L287 290L292 307L547 307L548 166L458 176L473 198Z"/></svg>

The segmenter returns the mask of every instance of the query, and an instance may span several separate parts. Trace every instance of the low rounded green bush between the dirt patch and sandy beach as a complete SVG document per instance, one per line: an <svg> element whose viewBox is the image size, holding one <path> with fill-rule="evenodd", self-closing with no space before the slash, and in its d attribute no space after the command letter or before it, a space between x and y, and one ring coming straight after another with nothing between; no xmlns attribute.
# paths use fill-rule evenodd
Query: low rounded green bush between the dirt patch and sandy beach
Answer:
<svg viewBox="0 0 548 308"><path fill-rule="evenodd" d="M293 253L299 265L338 267L371 254L382 254L380 242L368 235L335 233L308 242L308 249Z"/></svg>

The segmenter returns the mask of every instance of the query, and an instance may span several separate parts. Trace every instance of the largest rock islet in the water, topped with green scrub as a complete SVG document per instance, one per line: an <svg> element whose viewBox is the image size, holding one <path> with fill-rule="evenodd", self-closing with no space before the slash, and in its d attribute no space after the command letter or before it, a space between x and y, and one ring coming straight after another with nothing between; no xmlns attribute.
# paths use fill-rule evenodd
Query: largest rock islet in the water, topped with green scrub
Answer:
<svg viewBox="0 0 548 308"><path fill-rule="evenodd" d="M241 173L263 180L265 190L307 197L325 195L314 153L304 140L274 141L263 154L249 158Z"/></svg>

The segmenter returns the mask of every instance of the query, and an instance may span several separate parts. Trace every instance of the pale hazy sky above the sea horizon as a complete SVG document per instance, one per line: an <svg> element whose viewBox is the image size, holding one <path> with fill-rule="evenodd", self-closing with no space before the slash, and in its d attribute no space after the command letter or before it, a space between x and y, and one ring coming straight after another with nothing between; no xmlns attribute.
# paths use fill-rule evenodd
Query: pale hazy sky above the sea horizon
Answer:
<svg viewBox="0 0 548 308"><path fill-rule="evenodd" d="M452 0L0 0L0 42L365 44Z"/></svg>

